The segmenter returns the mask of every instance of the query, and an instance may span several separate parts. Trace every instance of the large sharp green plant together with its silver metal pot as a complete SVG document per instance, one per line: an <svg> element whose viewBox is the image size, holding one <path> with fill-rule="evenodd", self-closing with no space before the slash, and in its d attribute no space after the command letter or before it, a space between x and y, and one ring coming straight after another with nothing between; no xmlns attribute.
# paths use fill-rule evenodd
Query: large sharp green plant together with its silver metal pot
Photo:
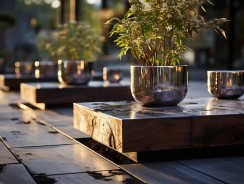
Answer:
<svg viewBox="0 0 244 184"><path fill-rule="evenodd" d="M131 92L145 106L172 106L187 93L188 66L180 65L185 45L193 32L220 28L225 18L205 20L199 14L209 0L129 0L130 8L120 20L113 18L111 36L121 48L119 57L130 51L141 66L131 66Z"/></svg>

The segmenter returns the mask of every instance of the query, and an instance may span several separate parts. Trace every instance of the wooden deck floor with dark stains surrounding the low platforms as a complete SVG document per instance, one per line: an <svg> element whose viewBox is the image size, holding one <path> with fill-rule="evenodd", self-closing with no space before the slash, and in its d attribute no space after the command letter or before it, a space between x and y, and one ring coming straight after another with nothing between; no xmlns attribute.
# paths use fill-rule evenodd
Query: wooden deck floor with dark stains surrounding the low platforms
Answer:
<svg viewBox="0 0 244 184"><path fill-rule="evenodd" d="M204 85L190 84L187 97L208 96ZM73 128L71 108L20 102L18 92L0 91L0 183L244 183L242 148L238 156L118 165L76 141L89 137Z"/></svg>

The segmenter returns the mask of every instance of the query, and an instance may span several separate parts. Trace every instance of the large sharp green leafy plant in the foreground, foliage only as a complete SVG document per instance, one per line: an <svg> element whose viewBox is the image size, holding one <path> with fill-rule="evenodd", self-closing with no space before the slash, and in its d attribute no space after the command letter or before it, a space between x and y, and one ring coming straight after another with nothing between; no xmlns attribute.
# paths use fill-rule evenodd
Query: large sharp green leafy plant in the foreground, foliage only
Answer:
<svg viewBox="0 0 244 184"><path fill-rule="evenodd" d="M210 0L129 0L131 5L125 17L113 18L110 36L118 35L114 41L121 48L119 57L131 51L136 60L146 66L177 65L185 45L193 32L202 28L212 28L222 33L220 28L225 18L205 20L199 8Z"/></svg>

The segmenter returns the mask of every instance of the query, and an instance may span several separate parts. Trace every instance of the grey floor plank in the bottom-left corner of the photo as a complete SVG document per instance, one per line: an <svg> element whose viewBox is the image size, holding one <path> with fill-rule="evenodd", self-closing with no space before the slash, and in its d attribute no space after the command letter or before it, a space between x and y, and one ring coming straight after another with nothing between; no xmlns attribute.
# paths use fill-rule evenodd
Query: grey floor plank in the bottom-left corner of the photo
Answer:
<svg viewBox="0 0 244 184"><path fill-rule="evenodd" d="M0 165L0 183L35 184L36 182L22 164Z"/></svg>

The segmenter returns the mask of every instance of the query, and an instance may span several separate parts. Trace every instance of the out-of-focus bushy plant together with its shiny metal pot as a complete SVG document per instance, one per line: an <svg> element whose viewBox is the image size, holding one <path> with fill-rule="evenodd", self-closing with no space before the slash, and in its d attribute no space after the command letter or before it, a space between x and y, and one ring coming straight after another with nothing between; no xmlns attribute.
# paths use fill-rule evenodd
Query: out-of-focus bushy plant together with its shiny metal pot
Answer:
<svg viewBox="0 0 244 184"><path fill-rule="evenodd" d="M45 43L50 58L58 60L58 79L62 84L87 84L92 63L102 53L103 37L87 22L69 22Z"/></svg>

